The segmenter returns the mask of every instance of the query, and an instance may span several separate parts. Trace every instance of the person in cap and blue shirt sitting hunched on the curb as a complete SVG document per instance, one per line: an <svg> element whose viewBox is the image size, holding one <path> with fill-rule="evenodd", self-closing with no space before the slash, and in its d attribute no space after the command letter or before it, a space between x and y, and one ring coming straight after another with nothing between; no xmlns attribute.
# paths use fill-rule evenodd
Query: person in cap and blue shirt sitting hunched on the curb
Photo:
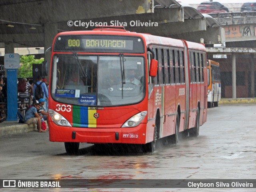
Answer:
<svg viewBox="0 0 256 192"><path fill-rule="evenodd" d="M46 130L42 130L42 125L41 125L41 119L43 118L42 116L40 117L37 113L37 110L40 108L39 104L36 104L35 107L30 108L25 116L24 116L24 123L26 124L36 124L38 132L46 132Z"/></svg>

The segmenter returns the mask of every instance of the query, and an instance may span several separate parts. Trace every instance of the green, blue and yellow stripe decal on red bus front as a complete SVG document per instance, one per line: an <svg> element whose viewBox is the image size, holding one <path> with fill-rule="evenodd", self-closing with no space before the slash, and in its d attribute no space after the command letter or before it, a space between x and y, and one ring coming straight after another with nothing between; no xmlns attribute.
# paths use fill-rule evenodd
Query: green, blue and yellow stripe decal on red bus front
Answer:
<svg viewBox="0 0 256 192"><path fill-rule="evenodd" d="M97 117L94 117L95 114L97 114L96 109L83 106L73 106L73 127L96 128Z"/></svg>

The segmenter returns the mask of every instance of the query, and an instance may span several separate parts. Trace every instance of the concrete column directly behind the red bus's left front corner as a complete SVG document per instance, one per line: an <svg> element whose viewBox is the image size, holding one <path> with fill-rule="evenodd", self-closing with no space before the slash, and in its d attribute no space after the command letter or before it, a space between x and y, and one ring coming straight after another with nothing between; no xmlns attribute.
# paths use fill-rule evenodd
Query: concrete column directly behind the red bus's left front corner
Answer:
<svg viewBox="0 0 256 192"><path fill-rule="evenodd" d="M57 31L57 23L51 23L51 24L44 24L44 52L52 46L52 42L56 34L58 33ZM45 56L44 60L48 61L49 68L48 68L48 74L50 70L50 62L51 62L51 52L48 51ZM46 79L49 80L49 77L46 76Z"/></svg>

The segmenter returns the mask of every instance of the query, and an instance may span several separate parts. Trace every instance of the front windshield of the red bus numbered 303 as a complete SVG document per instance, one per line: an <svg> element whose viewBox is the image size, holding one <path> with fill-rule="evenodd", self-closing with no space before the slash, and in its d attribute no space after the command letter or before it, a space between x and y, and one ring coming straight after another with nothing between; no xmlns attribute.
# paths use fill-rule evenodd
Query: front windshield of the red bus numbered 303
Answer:
<svg viewBox="0 0 256 192"><path fill-rule="evenodd" d="M56 54L52 65L52 98L80 106L120 106L145 95L144 58Z"/></svg>

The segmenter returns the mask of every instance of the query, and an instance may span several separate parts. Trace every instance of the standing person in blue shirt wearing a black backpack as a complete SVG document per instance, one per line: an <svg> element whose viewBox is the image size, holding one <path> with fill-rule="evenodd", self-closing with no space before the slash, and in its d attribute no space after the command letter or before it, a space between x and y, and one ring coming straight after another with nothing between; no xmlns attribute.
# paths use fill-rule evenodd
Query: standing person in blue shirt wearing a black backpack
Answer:
<svg viewBox="0 0 256 192"><path fill-rule="evenodd" d="M42 76L38 76L37 82L34 84L33 90L33 96L34 98L36 98L36 100L48 100L48 89L46 87L46 84L42 82ZM44 108L46 109L45 103Z"/></svg>

